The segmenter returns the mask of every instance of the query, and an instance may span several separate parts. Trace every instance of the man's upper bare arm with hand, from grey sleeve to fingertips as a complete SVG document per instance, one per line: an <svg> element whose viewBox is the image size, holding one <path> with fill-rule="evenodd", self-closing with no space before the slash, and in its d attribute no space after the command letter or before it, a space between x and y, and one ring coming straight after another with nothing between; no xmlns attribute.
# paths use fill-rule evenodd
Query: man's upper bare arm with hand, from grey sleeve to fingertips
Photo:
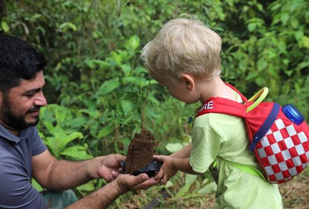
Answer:
<svg viewBox="0 0 309 209"><path fill-rule="evenodd" d="M32 157L32 175L51 190L71 189L100 177L110 182L119 174L119 163L125 158L114 154L84 161L57 160L46 150Z"/></svg>

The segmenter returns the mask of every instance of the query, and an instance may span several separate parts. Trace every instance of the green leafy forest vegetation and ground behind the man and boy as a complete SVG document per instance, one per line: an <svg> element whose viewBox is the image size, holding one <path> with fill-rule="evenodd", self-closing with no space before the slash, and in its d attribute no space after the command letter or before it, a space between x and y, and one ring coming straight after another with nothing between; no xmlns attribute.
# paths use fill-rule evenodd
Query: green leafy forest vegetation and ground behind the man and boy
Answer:
<svg viewBox="0 0 309 209"><path fill-rule="evenodd" d="M150 76L140 50L167 20L197 15L223 39L222 77L245 96L269 87L268 101L293 103L309 118L309 3L305 0L0 0L0 33L32 44L46 56L39 131L57 158L126 155L140 132ZM186 106L151 80L145 127L155 153L190 142ZM306 208L308 170L280 185L285 208ZM34 186L42 188L36 182ZM103 179L75 189L79 197ZM212 208L216 184L208 172L178 172L166 186L124 194L110 208ZM305 196L303 194L306 194ZM104 198L104 197L103 197Z"/></svg>

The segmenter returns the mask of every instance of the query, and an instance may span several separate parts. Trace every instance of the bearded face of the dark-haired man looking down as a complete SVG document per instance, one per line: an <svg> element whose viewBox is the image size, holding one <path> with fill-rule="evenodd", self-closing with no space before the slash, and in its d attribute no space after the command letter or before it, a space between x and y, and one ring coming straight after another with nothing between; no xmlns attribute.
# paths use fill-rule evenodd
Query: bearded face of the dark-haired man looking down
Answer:
<svg viewBox="0 0 309 209"><path fill-rule="evenodd" d="M0 94L0 123L13 131L37 125L39 110L47 104L44 84L41 71L34 80L22 80L8 95Z"/></svg>

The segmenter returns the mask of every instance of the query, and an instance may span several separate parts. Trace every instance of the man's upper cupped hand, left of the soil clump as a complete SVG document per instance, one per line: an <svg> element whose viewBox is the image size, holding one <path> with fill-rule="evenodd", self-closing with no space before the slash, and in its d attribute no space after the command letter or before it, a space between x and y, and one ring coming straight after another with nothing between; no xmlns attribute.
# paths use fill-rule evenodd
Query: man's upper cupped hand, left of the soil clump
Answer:
<svg viewBox="0 0 309 209"><path fill-rule="evenodd" d="M119 175L120 162L123 160L126 160L126 157L120 154L104 156L98 167L98 176L107 182L114 180Z"/></svg>

